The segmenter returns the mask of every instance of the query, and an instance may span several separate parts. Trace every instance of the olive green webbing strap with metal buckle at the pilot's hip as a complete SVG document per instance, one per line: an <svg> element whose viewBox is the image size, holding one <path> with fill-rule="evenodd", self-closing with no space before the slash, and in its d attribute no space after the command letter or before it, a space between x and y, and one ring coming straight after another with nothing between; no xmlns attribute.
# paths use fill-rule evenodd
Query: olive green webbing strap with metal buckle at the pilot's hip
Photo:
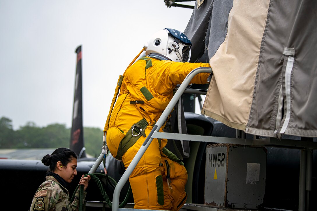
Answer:
<svg viewBox="0 0 317 211"><path fill-rule="evenodd" d="M122 138L119 144L116 159L122 160L124 153L126 153L126 151L130 149L130 147L132 147L141 136L146 137L144 130L147 125L148 123L146 119L143 118L131 126L131 129L126 133L126 136Z"/></svg>

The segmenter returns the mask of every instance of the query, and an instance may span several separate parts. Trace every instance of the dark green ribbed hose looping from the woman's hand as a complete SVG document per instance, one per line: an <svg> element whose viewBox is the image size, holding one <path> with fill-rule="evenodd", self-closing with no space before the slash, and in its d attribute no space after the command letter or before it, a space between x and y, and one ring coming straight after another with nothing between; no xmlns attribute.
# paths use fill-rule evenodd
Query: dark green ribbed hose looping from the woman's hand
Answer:
<svg viewBox="0 0 317 211"><path fill-rule="evenodd" d="M100 175L100 176L106 176L105 174L101 174L101 173L94 173L94 174L86 174L85 177L87 175L90 175L92 179L94 179L94 181L97 183L99 189L100 189L100 192L101 192L101 195L103 196L103 198L105 199L105 201L107 202L108 206L110 208L112 208L112 202L110 201L104 187L102 186L102 183L100 182L99 178L96 176L96 175ZM110 177L111 178L111 177ZM111 178L112 181L114 181L114 183L116 184L115 180L113 178ZM84 205L84 188L83 188L83 185L77 185L75 191L74 191L74 194L72 196L72 199L71 201L74 201L74 197L75 197L75 194L77 192L77 189L79 188L79 204L78 204L78 210L79 211L83 211L83 205ZM126 206L127 204L127 201L128 199L130 198L132 194L132 190L131 190L131 185L129 185L129 189L126 193L126 197L125 199L123 200L123 202L119 205L119 208L123 208L124 206Z"/></svg>

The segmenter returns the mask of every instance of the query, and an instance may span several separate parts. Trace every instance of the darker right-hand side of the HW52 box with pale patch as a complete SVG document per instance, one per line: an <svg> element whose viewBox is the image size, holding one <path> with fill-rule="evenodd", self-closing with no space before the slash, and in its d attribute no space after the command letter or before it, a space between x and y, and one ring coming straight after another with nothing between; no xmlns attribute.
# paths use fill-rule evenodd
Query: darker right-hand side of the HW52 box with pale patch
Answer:
<svg viewBox="0 0 317 211"><path fill-rule="evenodd" d="M258 208L263 203L267 151L264 147L229 147L227 201L235 208Z"/></svg>

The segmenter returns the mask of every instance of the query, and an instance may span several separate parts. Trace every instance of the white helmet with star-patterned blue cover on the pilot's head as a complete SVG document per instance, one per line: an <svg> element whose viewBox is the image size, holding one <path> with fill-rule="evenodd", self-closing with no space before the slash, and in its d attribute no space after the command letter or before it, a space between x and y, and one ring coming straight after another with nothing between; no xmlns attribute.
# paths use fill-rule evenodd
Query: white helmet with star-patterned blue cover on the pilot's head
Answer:
<svg viewBox="0 0 317 211"><path fill-rule="evenodd" d="M156 32L145 45L145 54L160 60L188 62L191 58L191 41L176 29Z"/></svg>

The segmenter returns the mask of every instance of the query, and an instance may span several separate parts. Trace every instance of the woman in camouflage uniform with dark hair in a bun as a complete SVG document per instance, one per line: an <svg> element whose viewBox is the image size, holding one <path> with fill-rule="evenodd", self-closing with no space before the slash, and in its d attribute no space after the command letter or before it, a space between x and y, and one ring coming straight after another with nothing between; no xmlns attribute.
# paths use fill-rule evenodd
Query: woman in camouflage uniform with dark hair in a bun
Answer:
<svg viewBox="0 0 317 211"><path fill-rule="evenodd" d="M45 155L42 159L44 165L49 166L46 173L46 181L37 189L29 211L59 211L78 210L79 189L75 199L71 203L69 199L68 185L77 175L77 156L67 148L58 148L52 155ZM79 185L87 189L90 176L81 176ZM84 192L84 197L86 192Z"/></svg>

